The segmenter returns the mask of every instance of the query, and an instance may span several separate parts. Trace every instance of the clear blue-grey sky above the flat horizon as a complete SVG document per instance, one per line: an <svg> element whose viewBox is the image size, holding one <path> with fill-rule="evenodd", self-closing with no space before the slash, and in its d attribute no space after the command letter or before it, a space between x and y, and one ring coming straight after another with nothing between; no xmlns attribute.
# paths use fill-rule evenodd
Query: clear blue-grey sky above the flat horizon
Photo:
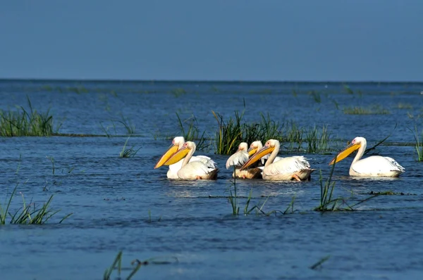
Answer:
<svg viewBox="0 0 423 280"><path fill-rule="evenodd" d="M0 5L0 78L423 81L421 0Z"/></svg>

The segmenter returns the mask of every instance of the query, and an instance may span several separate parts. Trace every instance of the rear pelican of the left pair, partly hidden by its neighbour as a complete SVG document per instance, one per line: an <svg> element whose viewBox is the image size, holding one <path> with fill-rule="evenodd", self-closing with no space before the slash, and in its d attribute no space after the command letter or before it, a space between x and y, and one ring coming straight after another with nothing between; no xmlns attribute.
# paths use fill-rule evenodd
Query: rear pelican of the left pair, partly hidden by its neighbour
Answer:
<svg viewBox="0 0 423 280"><path fill-rule="evenodd" d="M161 165L166 165L166 161L171 158L171 156L176 153L178 150L180 150L180 148L182 148L183 144L185 143L185 139L183 138L183 136L177 136L173 139L172 141L172 145L168 148L168 151L166 151L166 153L164 153L160 160L157 162L156 166L154 166L154 169L161 167ZM209 158L208 156L205 155L195 155L190 159L191 161L196 161L196 160L200 160L202 161L202 163L204 163L205 165L209 166L209 167L213 167L213 168L217 168L216 163ZM169 165L169 170L167 172L167 177L169 179L178 179L178 170L180 170L180 167L182 167L182 161L183 160L179 160L177 163L174 163L172 165Z"/></svg>

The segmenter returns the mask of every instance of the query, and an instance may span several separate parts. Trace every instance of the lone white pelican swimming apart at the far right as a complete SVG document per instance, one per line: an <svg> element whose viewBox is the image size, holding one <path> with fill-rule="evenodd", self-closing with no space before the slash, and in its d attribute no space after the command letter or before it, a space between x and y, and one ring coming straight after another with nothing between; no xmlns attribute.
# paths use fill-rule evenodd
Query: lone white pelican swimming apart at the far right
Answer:
<svg viewBox="0 0 423 280"><path fill-rule="evenodd" d="M381 155L372 155L360 160L366 150L366 146L367 141L364 137L355 137L355 139L351 141L351 144L339 152L329 165L338 163L338 161L343 160L350 153L358 149L357 155L355 155L353 163L351 163L350 176L398 177L405 171L405 168L397 163L396 160Z"/></svg>

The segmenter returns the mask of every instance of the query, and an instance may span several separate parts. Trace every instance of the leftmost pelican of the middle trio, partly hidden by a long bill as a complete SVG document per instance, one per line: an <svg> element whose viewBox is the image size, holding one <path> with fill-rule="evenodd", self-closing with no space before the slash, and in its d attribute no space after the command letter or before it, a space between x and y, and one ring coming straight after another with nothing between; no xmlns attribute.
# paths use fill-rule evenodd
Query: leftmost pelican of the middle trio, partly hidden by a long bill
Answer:
<svg viewBox="0 0 423 280"><path fill-rule="evenodd" d="M226 160L226 169L229 169L231 166L235 166L235 172L232 173L232 177L243 179L262 178L262 170L259 168L250 168L248 170L240 171L243 164L247 162L248 157L255 153L255 151L252 151L251 153L247 152L247 149L248 144L245 142L241 143L240 146L238 146L238 151Z"/></svg>

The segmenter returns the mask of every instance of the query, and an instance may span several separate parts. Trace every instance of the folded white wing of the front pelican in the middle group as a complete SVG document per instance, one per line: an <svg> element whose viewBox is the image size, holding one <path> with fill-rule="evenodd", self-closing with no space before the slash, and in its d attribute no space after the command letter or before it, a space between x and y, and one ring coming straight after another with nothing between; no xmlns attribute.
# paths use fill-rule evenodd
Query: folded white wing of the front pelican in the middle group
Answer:
<svg viewBox="0 0 423 280"><path fill-rule="evenodd" d="M264 167L264 174L274 176L278 174L293 174L300 170L309 169L309 163L302 156L281 158L276 163Z"/></svg>

